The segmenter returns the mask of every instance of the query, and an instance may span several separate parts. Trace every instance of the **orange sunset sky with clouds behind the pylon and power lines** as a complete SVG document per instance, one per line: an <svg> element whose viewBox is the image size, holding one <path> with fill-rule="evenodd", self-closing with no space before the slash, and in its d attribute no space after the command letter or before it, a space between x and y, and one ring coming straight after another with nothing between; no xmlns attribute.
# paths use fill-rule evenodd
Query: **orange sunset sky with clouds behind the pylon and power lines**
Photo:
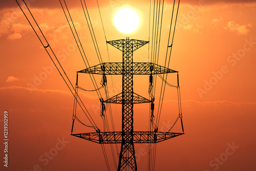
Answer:
<svg viewBox="0 0 256 171"><path fill-rule="evenodd" d="M98 65L80 1L66 0L66 3L90 66ZM97 2L86 3L103 62L122 61L121 51L110 45L107 51L104 36L108 41L126 37L148 41L150 4L152 31L154 1L99 0L105 35ZM177 9L178 1L175 4ZM27 5L75 85L76 72L86 67L59 1L28 0ZM121 8L131 8L140 17L139 27L132 33L121 33L114 26L114 15ZM173 1L164 1L159 53L162 66L172 9ZM157 144L156 171L256 170L255 14L253 0L180 1L169 68L179 71L185 134ZM150 44L134 52L135 62L150 61L151 40L152 34ZM70 135L74 97L14 0L0 2L0 45L1 135L4 135L4 111L8 112L9 122L8 168L3 163L1 143L1 170L107 170L100 144ZM122 79L113 76L112 82L111 78L108 76L108 87L110 96L114 96L122 90ZM99 84L101 76L95 79ZM157 80L161 85L161 79ZM148 76L135 76L134 81L134 92L147 97ZM177 84L176 74L170 74L167 81ZM79 85L94 89L87 74L79 74ZM103 130L97 94L79 92L93 120ZM178 116L176 89L166 87L165 93L159 123L163 131ZM112 105L112 110L116 129L121 131L121 105ZM90 124L78 112L79 118ZM147 130L148 104L135 105L134 124L135 131ZM181 132L180 122L175 130ZM75 132L95 130L76 121ZM110 168L115 170L110 146L105 148ZM147 169L146 150L147 145L135 144L139 171Z"/></svg>

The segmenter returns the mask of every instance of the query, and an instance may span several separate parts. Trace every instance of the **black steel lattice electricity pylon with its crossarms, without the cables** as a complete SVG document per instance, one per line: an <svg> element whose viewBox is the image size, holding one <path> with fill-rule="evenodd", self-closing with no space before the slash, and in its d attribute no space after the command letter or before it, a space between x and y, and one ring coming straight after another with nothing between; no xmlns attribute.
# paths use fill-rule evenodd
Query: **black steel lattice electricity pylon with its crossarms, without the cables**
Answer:
<svg viewBox="0 0 256 171"><path fill-rule="evenodd" d="M78 73L122 75L122 92L114 97L101 100L103 103L122 104L122 131L121 132L100 132L71 134L101 144L121 143L119 155L118 171L137 170L134 143L157 143L183 133L158 132L135 132L133 129L133 105L136 103L152 103L151 110L154 111L154 98L146 99L133 92L133 75L150 75L152 83L153 74L177 73L177 71L159 66L151 62L133 62L133 52L148 41L129 39L120 39L107 41L108 44L122 51L122 62L100 63Z"/></svg>

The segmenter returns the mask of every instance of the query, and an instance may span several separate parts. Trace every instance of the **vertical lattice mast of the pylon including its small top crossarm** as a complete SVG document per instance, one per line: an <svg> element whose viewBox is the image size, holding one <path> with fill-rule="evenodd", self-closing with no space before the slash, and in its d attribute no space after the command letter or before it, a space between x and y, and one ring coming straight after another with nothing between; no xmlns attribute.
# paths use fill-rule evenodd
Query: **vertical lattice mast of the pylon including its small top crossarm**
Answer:
<svg viewBox="0 0 256 171"><path fill-rule="evenodd" d="M126 40L108 41L123 52L122 62L122 143L119 156L119 170L137 170L133 143L133 51L147 44L147 41ZM140 42L140 43L139 43Z"/></svg>

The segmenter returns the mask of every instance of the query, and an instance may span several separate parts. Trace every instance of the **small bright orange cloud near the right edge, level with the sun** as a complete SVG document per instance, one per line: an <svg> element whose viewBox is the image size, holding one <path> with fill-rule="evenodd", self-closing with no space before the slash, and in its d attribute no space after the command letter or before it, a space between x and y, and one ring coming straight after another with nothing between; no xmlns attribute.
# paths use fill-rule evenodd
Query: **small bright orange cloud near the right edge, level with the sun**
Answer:
<svg viewBox="0 0 256 171"><path fill-rule="evenodd" d="M247 24L247 25L239 25L236 24L236 22L231 21L227 23L227 26L224 27L225 30L231 31L231 32L237 32L238 34L248 34L249 30L248 28L251 28L251 24Z"/></svg>

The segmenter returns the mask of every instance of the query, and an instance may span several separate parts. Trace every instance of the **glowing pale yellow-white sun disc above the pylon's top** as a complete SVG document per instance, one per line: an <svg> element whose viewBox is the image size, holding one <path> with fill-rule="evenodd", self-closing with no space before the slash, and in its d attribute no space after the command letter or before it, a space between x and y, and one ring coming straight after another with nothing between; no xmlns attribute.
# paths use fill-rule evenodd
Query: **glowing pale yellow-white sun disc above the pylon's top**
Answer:
<svg viewBox="0 0 256 171"><path fill-rule="evenodd" d="M114 16L114 25L122 33L131 33L138 28L140 17L131 8L122 8Z"/></svg>

